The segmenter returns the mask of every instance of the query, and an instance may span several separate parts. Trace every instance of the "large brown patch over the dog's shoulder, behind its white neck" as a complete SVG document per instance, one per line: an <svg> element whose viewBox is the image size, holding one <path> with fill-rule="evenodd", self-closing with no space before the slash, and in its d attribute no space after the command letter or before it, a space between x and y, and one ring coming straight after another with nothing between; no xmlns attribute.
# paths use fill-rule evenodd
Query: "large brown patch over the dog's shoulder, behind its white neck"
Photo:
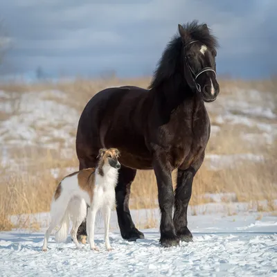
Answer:
<svg viewBox="0 0 277 277"><path fill-rule="evenodd" d="M89 194L92 201L93 199L93 188L95 186L95 168L86 168L78 172L78 184L80 188Z"/></svg>

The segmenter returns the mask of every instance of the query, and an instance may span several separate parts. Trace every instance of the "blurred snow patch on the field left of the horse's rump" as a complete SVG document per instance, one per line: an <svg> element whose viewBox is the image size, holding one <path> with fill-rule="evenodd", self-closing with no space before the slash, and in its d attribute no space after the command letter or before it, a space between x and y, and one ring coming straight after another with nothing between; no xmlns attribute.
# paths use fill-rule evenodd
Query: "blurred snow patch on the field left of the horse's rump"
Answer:
<svg viewBox="0 0 277 277"><path fill-rule="evenodd" d="M17 93L14 98L14 93L10 95L10 100L0 105L0 111L10 114L7 120L0 122L0 143L8 140L9 144L35 145L37 141L43 144L49 139L64 139L68 147L74 143L69 133L76 129L80 115L60 101L67 97L66 93ZM51 148L51 143L47 146ZM53 147L55 148L55 143Z"/></svg>

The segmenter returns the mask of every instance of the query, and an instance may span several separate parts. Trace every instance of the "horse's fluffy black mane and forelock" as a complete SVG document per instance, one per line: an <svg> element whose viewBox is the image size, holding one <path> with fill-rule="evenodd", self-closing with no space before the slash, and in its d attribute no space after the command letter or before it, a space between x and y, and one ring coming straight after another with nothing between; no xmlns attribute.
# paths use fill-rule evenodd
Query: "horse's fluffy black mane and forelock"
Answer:
<svg viewBox="0 0 277 277"><path fill-rule="evenodd" d="M195 20L191 23L184 24L183 28L190 34L190 39L199 40L199 42L202 42L202 44L205 44L208 48L215 49L218 46L217 39L211 35L207 28L203 28L202 24L198 24L198 21ZM178 33L171 39L163 51L157 69L154 71L152 82L148 87L149 89L158 87L164 81L176 75L175 73L182 76L182 46L183 42Z"/></svg>

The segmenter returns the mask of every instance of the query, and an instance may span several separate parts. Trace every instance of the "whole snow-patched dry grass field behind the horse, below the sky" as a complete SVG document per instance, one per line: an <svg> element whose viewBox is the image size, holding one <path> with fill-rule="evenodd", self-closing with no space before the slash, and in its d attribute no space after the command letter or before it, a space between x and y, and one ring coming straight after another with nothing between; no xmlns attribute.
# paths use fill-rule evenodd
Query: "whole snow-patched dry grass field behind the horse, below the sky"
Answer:
<svg viewBox="0 0 277 277"><path fill-rule="evenodd" d="M75 132L91 96L105 87L148 87L149 82L150 78L0 84L0 231L39 228L39 222L21 215L48 211L57 183L78 169ZM193 184L192 211L197 214L198 205L215 201L248 202L249 209L276 211L277 81L222 79L220 86L217 100L206 104L211 139ZM267 202L261 205L260 200ZM152 170L137 173L130 206L157 207ZM10 222L10 215L18 215L17 224ZM154 220L150 217L145 228Z"/></svg>

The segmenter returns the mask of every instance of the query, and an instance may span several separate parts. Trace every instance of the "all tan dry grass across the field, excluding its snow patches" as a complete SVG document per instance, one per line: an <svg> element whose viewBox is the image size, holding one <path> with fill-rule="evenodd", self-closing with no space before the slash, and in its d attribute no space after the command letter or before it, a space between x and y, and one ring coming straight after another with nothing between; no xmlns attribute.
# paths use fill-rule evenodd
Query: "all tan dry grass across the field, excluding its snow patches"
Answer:
<svg viewBox="0 0 277 277"><path fill-rule="evenodd" d="M6 84L5 86L0 86L0 89L12 92L10 96L14 99L12 114L17 113L20 105L20 97L16 98L15 93L20 95L20 93L28 93L28 91L44 91L46 89L57 89L69 93L70 97L64 100L66 101L64 104L74 107L77 111L81 112L87 100L97 91L100 91L100 89L122 84L147 87L149 81L149 78L141 80L76 80L73 84ZM276 84L276 80L263 80L259 82L222 80L221 89L224 91L225 88L236 86L245 89L260 89L260 91L274 91L274 84ZM49 99L51 100L52 98ZM277 98L274 99L277 100ZM6 120L8 116L10 114L1 112L0 120ZM213 120L211 121L213 122ZM35 132L41 131L35 123L31 127ZM59 125L53 123L52 127L59 127ZM245 126L229 125L221 127L221 132L211 138L208 143L207 152L209 154L261 153L265 157L265 161L263 163L246 161L242 164L233 165L233 168L217 171L208 170L204 164L199 172L197 172L193 184L193 196L190 200L193 215L197 215L197 210L194 207L213 201L205 196L206 193L235 193L238 202L251 203L252 206L249 206L249 208L255 206L256 210L260 212L275 211L276 206L274 206L272 200L277 199L277 143L273 143L271 147L267 145L253 147L241 139L240 134L249 131ZM71 134L75 136L74 129ZM21 148L20 145L12 148L10 157L12 157L13 161L21 161L21 166L15 172L10 172L13 163L5 168L0 168L0 231L9 230L13 227L21 228L27 226L30 229L39 228L38 222L33 222L28 218L22 221L20 215L31 215L33 213L49 211L51 197L59 179L69 173L65 168L78 168L78 160L75 156L72 159L65 159L60 154L64 139L56 139L55 142L60 145L60 148L57 148L57 150L46 150L39 146L37 148L33 146ZM51 143L53 143L53 140ZM72 148L74 147L75 145L72 145ZM51 175L52 168L60 170L57 179ZM176 172L172 173L172 179L174 186L176 186ZM267 204L261 206L259 204L260 200L267 200ZM157 184L152 170L138 171L132 186L130 207L134 210L157 208ZM233 212L230 211L229 215L232 214ZM10 215L19 215L17 224L13 225L10 222ZM141 226L140 222L145 222L145 219L141 221L140 219L136 220L138 226ZM147 222L147 225L143 223L143 228L157 226L157 219L154 217L154 214L148 215Z"/></svg>

